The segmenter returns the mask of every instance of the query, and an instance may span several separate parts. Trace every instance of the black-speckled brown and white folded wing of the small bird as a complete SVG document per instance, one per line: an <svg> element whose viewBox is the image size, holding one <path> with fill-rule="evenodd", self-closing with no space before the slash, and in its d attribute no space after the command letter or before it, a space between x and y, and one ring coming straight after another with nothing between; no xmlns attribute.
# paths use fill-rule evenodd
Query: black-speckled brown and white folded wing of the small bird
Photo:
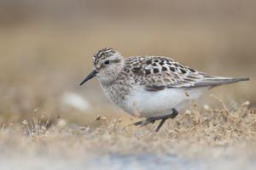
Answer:
<svg viewBox="0 0 256 170"><path fill-rule="evenodd" d="M137 56L126 59L125 69L135 83L148 91L165 88L215 87L221 84L246 81L247 78L214 77L181 65L161 56Z"/></svg>

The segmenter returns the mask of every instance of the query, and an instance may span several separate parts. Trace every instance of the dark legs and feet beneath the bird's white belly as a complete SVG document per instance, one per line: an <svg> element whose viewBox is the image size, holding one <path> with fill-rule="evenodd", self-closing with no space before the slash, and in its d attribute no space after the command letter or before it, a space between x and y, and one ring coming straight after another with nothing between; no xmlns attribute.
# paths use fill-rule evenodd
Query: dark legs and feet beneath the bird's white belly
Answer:
<svg viewBox="0 0 256 170"><path fill-rule="evenodd" d="M134 125L136 125L136 126L141 125L143 127L143 126L148 125L149 123L154 124L155 121L161 120L160 124L155 129L155 132L158 132L160 130L160 127L162 127L162 125L166 122L166 119L168 119L168 118L173 119L174 117L177 116L177 114L178 114L177 110L173 108L172 109L172 114L170 114L170 115L148 117L144 121L135 122Z"/></svg>

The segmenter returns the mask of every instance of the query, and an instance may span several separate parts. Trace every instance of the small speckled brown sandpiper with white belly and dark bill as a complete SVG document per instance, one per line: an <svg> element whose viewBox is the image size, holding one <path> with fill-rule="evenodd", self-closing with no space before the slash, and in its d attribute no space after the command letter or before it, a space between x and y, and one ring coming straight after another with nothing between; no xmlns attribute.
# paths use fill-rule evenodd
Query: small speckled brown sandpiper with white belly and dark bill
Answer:
<svg viewBox="0 0 256 170"><path fill-rule="evenodd" d="M108 99L137 118L136 126L178 115L189 101L199 99L207 90L249 78L216 77L196 71L165 56L138 55L125 58L113 48L102 48L92 58L93 69L84 82L96 77Z"/></svg>

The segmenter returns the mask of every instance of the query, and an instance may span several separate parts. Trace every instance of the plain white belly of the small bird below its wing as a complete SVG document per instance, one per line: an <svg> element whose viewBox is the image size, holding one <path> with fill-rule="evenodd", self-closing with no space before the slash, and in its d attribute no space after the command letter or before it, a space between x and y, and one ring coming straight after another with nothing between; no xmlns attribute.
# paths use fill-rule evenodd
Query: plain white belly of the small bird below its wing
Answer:
<svg viewBox="0 0 256 170"><path fill-rule="evenodd" d="M148 92L137 88L125 99L123 109L132 116L164 116L183 109L192 99L198 99L207 88L166 88L157 92Z"/></svg>

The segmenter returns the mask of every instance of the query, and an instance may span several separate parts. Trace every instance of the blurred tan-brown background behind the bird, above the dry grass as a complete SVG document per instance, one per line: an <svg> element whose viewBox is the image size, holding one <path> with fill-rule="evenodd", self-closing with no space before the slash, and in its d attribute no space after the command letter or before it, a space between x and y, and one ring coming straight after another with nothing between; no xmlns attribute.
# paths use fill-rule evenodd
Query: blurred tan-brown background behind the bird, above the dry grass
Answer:
<svg viewBox="0 0 256 170"><path fill-rule="evenodd" d="M79 87L105 47L250 77L209 94L255 106L255 8L253 0L0 0L0 123L20 122L35 109L79 124L96 115L129 118L96 79ZM202 105L215 105L209 94Z"/></svg>

